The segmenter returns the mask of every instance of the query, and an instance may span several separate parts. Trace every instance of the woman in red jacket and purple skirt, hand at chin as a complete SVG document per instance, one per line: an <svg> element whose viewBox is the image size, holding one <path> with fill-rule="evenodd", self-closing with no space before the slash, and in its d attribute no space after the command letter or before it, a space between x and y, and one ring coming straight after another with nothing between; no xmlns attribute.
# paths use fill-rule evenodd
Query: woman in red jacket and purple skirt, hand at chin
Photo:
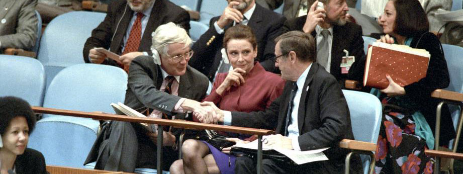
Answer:
<svg viewBox="0 0 463 174"><path fill-rule="evenodd" d="M222 50L224 62L229 61L233 70L218 73L211 94L204 99L227 111L263 111L283 92L285 81L278 75L265 71L255 61L257 43L254 32L245 25L229 28L224 36ZM228 134L230 141L252 141L254 136ZM198 140L183 143L182 159L170 166L170 173L234 173L235 156L230 148L222 151ZM225 153L224 153L225 152Z"/></svg>

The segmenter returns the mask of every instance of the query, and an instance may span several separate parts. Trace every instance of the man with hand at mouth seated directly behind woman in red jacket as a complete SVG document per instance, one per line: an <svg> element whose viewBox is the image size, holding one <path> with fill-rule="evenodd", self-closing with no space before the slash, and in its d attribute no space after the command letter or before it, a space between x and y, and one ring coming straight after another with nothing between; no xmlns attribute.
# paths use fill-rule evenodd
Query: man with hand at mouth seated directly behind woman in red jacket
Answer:
<svg viewBox="0 0 463 174"><path fill-rule="evenodd" d="M222 0L223 1L223 0ZM267 71L275 71L273 62L274 39L282 32L286 18L262 8L254 0L228 0L223 14L211 19L209 30L193 45L196 54L190 65L213 81L217 72L228 72L230 65L222 63L223 37L225 31L235 24L249 26L257 40L257 58Z"/></svg>

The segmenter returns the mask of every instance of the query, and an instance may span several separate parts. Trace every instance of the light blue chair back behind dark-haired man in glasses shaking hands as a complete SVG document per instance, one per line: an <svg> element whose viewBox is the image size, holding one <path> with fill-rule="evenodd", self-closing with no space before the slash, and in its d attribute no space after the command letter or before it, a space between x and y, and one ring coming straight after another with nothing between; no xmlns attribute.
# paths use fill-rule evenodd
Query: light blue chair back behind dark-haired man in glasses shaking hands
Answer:
<svg viewBox="0 0 463 174"><path fill-rule="evenodd" d="M352 132L357 141L377 143L383 115L380 100L368 93L342 90L349 106ZM368 156L360 155L364 173L368 173ZM375 159L372 159L375 160Z"/></svg>

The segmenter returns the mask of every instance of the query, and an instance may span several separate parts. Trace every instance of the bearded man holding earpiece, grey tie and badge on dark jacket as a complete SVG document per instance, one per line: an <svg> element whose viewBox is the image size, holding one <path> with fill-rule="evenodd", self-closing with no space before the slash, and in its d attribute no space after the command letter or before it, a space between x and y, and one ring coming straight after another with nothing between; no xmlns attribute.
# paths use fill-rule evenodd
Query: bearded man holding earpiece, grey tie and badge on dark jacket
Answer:
<svg viewBox="0 0 463 174"><path fill-rule="evenodd" d="M345 0L319 0L324 9L318 9L318 1L309 0L306 16L286 21L284 32L298 30L310 33L317 43L317 62L334 75L344 86L346 79L362 81L365 65L362 29L359 25L346 21L349 10ZM343 50L355 57L348 71L341 69Z"/></svg>

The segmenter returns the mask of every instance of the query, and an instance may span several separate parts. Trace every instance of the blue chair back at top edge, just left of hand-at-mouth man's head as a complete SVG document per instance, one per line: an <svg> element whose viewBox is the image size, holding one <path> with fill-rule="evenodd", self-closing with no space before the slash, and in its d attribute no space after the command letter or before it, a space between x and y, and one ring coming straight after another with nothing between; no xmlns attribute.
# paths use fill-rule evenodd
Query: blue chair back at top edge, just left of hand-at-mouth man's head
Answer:
<svg viewBox="0 0 463 174"><path fill-rule="evenodd" d="M227 5L227 1L202 0L199 22L209 26L209 21L211 21L211 18L222 15Z"/></svg>

